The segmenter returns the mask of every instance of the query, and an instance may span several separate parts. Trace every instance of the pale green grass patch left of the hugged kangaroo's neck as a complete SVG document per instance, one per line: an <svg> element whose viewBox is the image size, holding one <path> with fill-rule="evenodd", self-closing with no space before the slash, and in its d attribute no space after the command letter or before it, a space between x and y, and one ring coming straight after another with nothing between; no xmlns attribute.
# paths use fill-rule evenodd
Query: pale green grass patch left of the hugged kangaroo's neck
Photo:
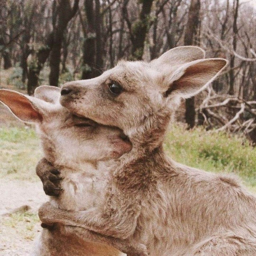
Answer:
<svg viewBox="0 0 256 256"><path fill-rule="evenodd" d="M0 178L36 181L35 166L42 157L33 128L0 128Z"/></svg>

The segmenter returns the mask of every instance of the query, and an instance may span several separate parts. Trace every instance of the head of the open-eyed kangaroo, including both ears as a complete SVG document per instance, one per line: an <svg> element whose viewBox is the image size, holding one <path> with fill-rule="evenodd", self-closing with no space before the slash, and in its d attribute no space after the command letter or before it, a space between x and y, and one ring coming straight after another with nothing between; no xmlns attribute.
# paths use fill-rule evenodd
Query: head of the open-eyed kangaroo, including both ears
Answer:
<svg viewBox="0 0 256 256"><path fill-rule="evenodd" d="M119 127L132 143L155 145L177 100L204 89L227 63L204 57L201 48L183 46L149 63L121 61L99 77L65 84L60 102L73 113Z"/></svg>

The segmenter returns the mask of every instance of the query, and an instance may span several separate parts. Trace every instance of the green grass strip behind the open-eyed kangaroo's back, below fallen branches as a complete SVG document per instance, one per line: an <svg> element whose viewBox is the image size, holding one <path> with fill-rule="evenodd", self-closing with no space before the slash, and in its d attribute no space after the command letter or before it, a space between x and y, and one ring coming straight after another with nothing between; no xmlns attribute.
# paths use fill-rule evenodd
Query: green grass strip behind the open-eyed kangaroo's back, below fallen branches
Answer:
<svg viewBox="0 0 256 256"><path fill-rule="evenodd" d="M175 161L215 173L235 173L256 192L256 147L234 135L209 133L200 128L187 131L173 126L165 150Z"/></svg>

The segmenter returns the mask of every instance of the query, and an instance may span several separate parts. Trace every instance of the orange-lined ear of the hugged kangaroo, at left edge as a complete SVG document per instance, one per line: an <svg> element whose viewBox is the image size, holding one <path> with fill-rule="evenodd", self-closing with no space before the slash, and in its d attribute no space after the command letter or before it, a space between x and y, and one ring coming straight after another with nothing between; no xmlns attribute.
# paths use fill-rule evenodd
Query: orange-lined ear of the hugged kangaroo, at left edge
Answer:
<svg viewBox="0 0 256 256"><path fill-rule="evenodd" d="M0 102L21 121L40 123L46 114L47 102L22 93L0 89Z"/></svg>

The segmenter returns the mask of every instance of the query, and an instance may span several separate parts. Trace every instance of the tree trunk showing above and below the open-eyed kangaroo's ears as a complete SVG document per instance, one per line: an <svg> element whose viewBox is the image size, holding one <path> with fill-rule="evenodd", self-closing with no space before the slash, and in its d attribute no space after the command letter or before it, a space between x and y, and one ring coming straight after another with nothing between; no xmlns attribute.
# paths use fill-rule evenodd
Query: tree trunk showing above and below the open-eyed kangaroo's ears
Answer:
<svg viewBox="0 0 256 256"><path fill-rule="evenodd" d="M197 35L197 28L199 25L199 12L200 12L200 0L191 0L189 10L188 10L188 21L186 25L185 35L184 35L184 45L195 45L195 37ZM195 98L191 97L186 99L186 111L185 120L188 124L188 128L193 128L195 126Z"/></svg>

